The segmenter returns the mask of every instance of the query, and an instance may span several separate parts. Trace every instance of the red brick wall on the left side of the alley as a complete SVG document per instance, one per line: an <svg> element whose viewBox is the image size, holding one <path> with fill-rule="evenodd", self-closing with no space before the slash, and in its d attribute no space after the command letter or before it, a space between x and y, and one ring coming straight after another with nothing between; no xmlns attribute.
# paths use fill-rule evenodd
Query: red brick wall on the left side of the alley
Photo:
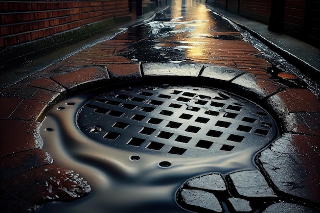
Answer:
<svg viewBox="0 0 320 213"><path fill-rule="evenodd" d="M0 49L129 14L128 0L0 2Z"/></svg>

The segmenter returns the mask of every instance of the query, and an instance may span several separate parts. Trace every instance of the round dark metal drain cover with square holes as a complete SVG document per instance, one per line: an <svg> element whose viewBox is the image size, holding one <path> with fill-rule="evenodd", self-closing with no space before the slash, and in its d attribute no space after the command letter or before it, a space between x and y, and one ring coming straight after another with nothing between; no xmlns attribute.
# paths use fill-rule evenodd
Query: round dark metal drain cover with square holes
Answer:
<svg viewBox="0 0 320 213"><path fill-rule="evenodd" d="M208 157L267 145L276 123L260 106L192 86L111 90L87 102L77 125L106 146L170 157Z"/></svg>

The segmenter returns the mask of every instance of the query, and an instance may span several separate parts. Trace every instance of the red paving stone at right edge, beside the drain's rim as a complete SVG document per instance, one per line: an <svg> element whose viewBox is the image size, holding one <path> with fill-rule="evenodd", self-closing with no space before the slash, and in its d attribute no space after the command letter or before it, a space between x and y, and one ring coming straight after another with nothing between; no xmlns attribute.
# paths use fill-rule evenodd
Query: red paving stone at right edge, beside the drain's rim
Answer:
<svg viewBox="0 0 320 213"><path fill-rule="evenodd" d="M307 89L286 89L277 94L289 112L320 112L320 102Z"/></svg>

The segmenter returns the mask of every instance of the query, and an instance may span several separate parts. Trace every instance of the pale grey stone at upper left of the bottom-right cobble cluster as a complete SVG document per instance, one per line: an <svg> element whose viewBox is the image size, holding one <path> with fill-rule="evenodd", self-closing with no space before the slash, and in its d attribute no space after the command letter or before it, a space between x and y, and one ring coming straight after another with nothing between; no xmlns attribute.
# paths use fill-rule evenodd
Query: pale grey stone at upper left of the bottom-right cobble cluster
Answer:
<svg viewBox="0 0 320 213"><path fill-rule="evenodd" d="M224 180L219 174L203 175L187 181L189 187L202 190L225 191Z"/></svg>

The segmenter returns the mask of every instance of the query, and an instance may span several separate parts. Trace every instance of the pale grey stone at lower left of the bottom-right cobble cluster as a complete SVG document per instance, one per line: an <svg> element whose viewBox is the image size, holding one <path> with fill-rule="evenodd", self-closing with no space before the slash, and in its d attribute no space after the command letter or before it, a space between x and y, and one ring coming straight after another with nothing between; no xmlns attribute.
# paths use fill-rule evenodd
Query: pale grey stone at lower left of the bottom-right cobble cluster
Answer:
<svg viewBox="0 0 320 213"><path fill-rule="evenodd" d="M183 189L181 191L181 197L182 201L188 205L213 210L216 212L222 212L222 207L219 203L219 200L212 193L201 190Z"/></svg>

